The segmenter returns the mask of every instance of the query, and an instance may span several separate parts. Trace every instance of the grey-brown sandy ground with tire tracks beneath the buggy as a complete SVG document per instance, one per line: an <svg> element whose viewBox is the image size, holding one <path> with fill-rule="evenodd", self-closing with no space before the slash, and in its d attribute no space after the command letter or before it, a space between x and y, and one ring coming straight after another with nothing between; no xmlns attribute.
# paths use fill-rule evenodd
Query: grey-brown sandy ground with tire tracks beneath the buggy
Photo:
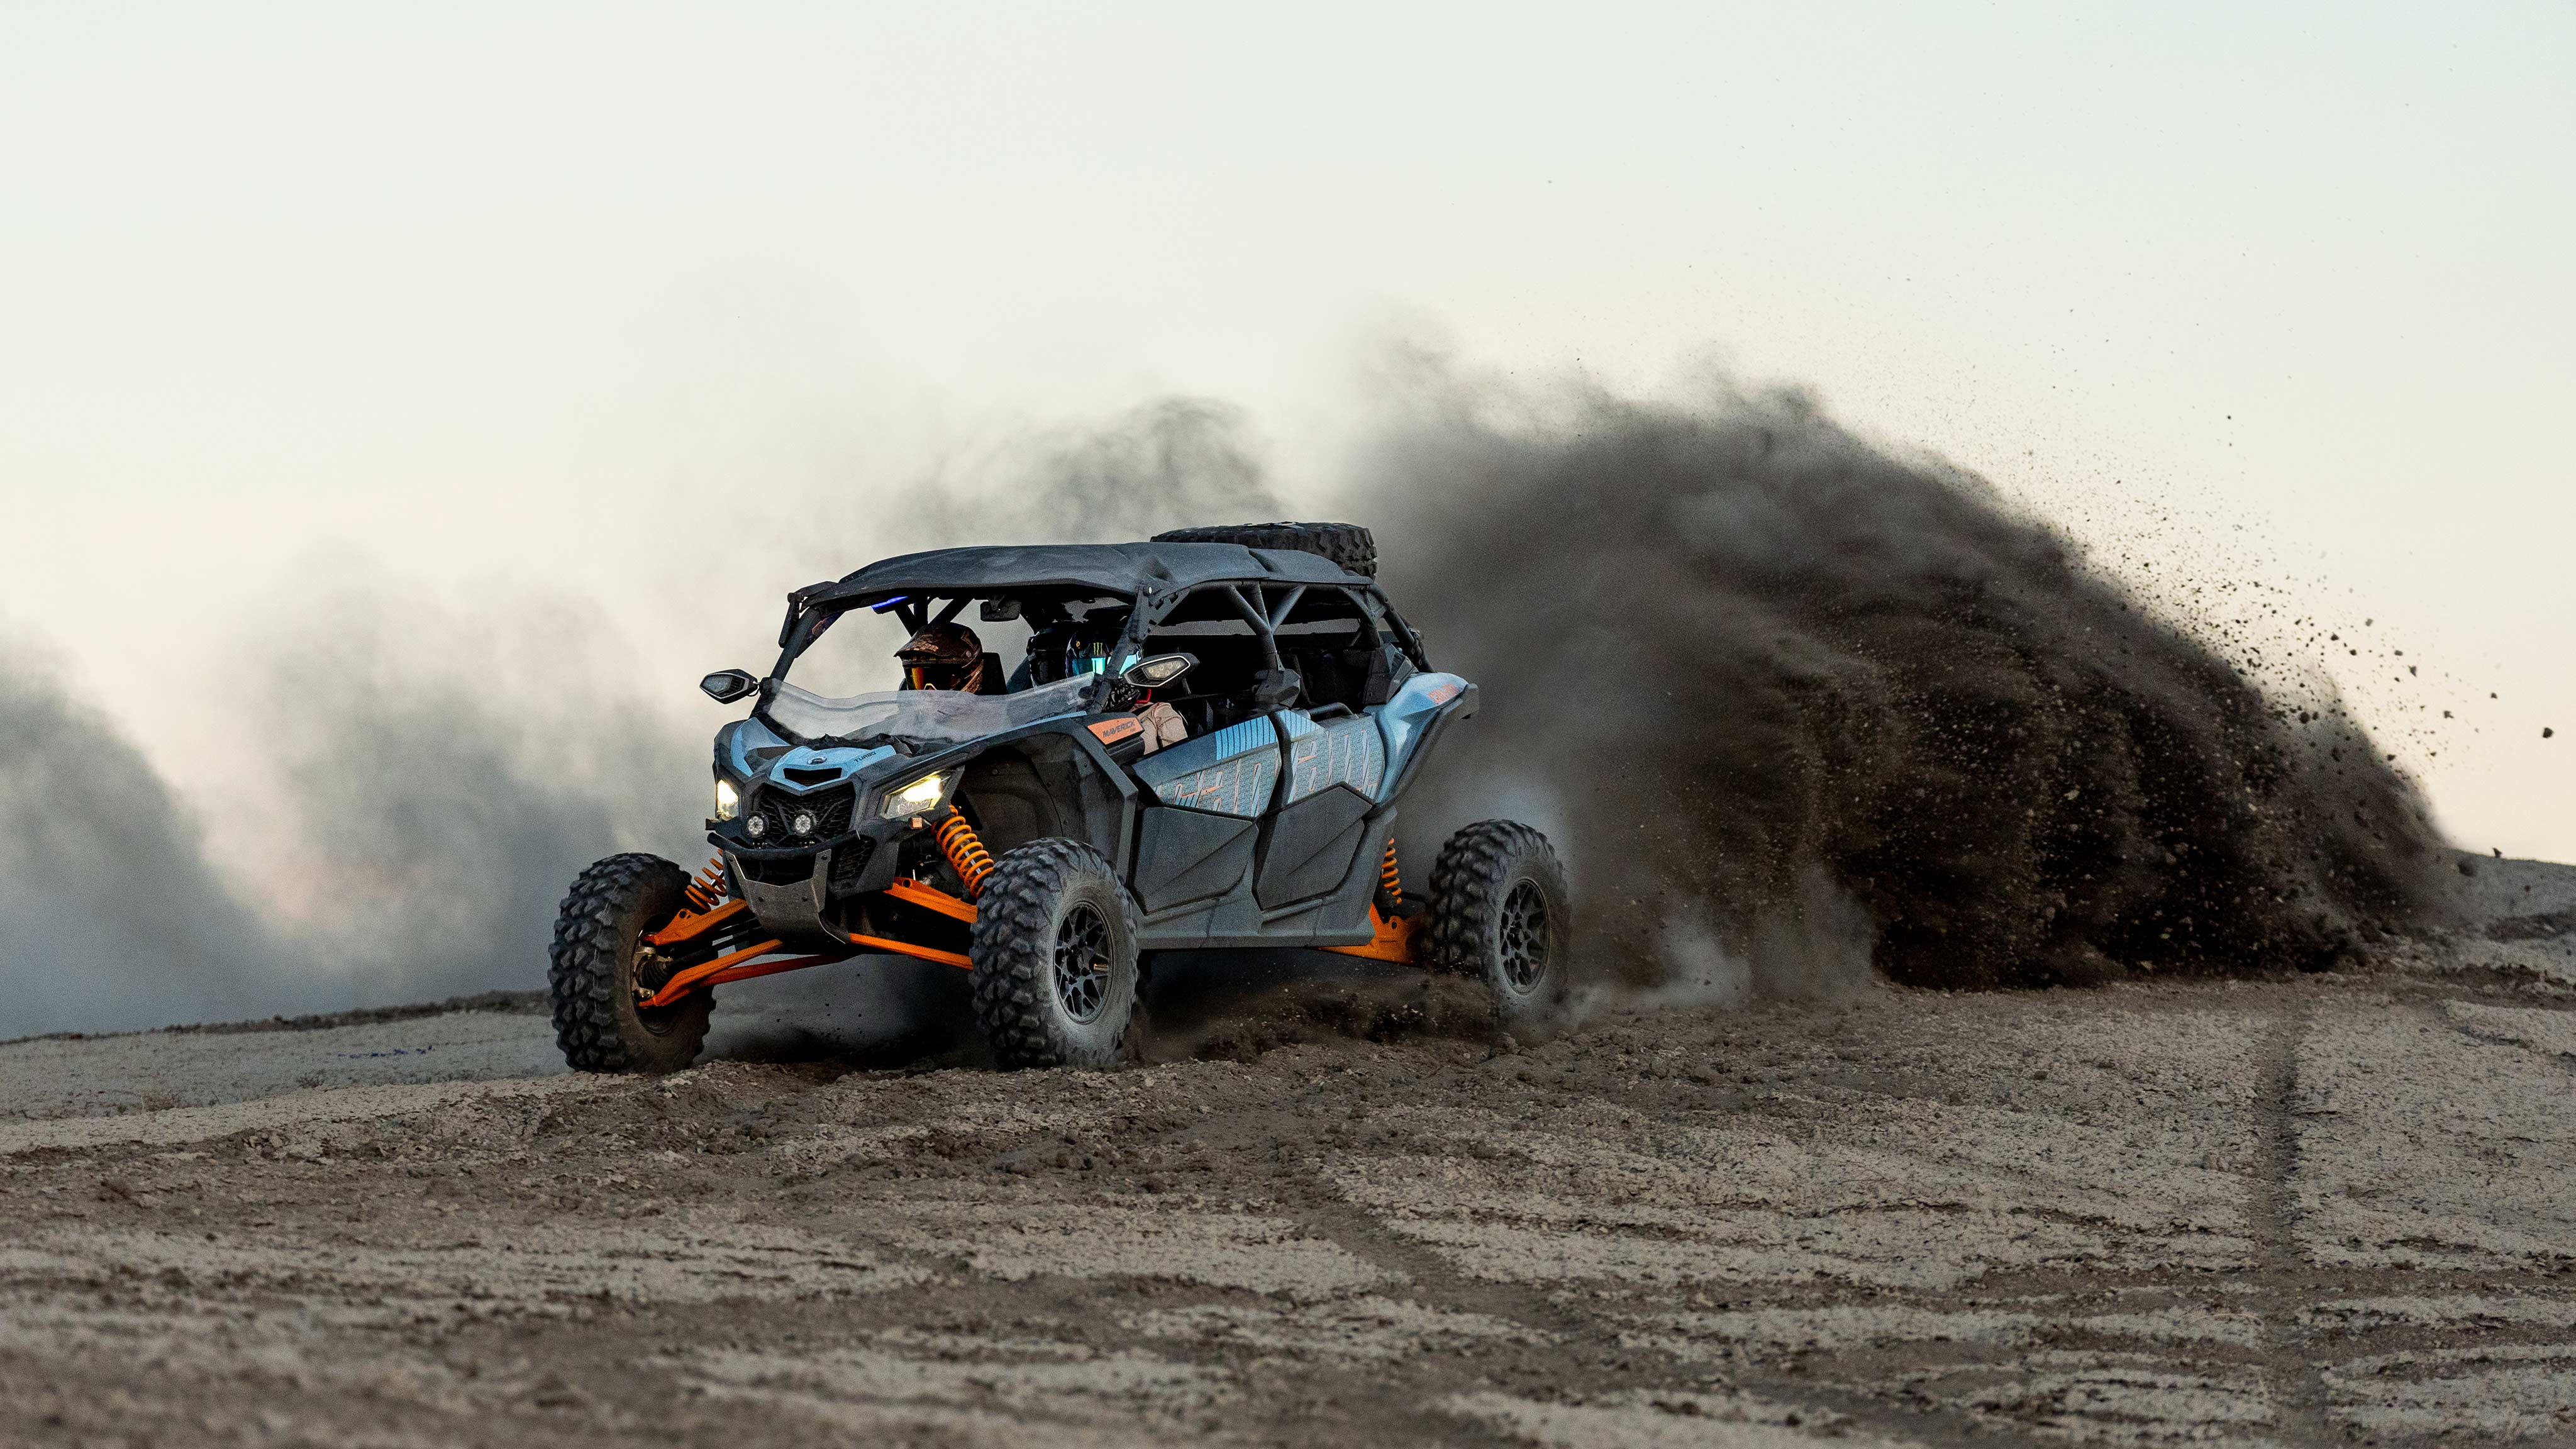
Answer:
<svg viewBox="0 0 2576 1449"><path fill-rule="evenodd" d="M5 1444L2576 1441L2576 871L2272 982L1600 1013L940 977L0 1047ZM801 995L799 995L801 993Z"/></svg>

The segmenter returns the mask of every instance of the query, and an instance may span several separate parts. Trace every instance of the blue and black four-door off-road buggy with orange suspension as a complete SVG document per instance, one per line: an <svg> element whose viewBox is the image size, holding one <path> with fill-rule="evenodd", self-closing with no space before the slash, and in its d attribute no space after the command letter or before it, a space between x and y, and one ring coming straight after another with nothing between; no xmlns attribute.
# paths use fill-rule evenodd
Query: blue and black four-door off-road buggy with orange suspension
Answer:
<svg viewBox="0 0 2576 1449"><path fill-rule="evenodd" d="M1157 951L1412 962L1484 977L1504 1024L1546 1013L1571 910L1538 830L1468 825L1430 900L1404 890L1396 804L1476 686L1432 670L1373 575L1365 529L1267 523L935 549L799 588L768 676L701 686L752 701L716 732L708 866L608 856L564 897L564 1057L685 1067L716 985L868 954L971 972L1005 1067L1118 1060ZM1025 629L1002 694L791 681L845 619L917 632L969 606Z"/></svg>

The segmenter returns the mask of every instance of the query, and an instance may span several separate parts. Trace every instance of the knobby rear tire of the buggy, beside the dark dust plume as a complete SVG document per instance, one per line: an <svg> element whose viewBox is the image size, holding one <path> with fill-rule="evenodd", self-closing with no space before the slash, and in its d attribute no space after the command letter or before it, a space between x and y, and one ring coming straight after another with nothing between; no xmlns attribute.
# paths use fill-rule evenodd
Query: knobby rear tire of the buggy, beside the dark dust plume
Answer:
<svg viewBox="0 0 2576 1449"><path fill-rule="evenodd" d="M1566 1000L1574 892L1548 838L1517 820L1479 820L1432 864L1432 962L1481 977L1502 1026L1540 1029Z"/></svg>

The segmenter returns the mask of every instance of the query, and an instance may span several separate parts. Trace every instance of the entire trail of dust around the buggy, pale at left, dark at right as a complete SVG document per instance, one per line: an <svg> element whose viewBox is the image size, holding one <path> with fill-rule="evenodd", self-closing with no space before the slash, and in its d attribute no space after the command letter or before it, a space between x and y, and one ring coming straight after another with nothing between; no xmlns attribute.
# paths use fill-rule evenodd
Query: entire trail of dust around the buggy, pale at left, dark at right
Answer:
<svg viewBox="0 0 2576 1449"><path fill-rule="evenodd" d="M1448 825L1533 820L1597 980L1731 1003L1873 964L2321 964L2434 910L2424 807L2339 712L2269 704L1978 480L1795 394L1432 379L1355 477L1340 513L1484 686L1406 810L1412 874ZM902 549L1309 511L1206 400L775 495L778 596ZM587 861L698 853L696 670L590 601L307 598L227 673L260 820L216 861L131 740L0 655L0 1036L526 990Z"/></svg>

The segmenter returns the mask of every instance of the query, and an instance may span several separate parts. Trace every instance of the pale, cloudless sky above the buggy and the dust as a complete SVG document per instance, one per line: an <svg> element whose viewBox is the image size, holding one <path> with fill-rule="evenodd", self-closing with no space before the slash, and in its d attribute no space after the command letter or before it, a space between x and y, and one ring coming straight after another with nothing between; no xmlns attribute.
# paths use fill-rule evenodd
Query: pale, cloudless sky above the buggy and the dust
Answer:
<svg viewBox="0 0 2576 1449"><path fill-rule="evenodd" d="M598 601L685 696L871 557L781 500L1164 392L1324 495L1437 335L2172 505L2478 701L2401 755L2460 843L2576 859L2571 235L2563 3L21 0L0 642L183 792L350 580Z"/></svg>

